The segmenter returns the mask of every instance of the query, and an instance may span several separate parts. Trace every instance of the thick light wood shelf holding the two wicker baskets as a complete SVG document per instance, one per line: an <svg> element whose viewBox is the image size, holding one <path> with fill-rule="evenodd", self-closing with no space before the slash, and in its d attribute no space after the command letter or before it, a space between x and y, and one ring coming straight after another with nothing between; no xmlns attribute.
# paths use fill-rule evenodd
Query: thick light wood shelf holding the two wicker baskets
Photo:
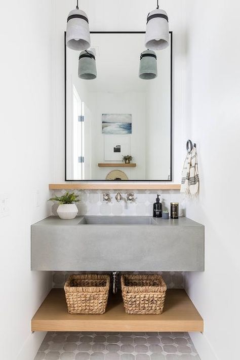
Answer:
<svg viewBox="0 0 240 360"><path fill-rule="evenodd" d="M121 293L109 296L102 315L71 315L63 289L52 289L31 321L32 331L186 331L201 332L204 322L184 290L167 290L161 315L126 314Z"/></svg>

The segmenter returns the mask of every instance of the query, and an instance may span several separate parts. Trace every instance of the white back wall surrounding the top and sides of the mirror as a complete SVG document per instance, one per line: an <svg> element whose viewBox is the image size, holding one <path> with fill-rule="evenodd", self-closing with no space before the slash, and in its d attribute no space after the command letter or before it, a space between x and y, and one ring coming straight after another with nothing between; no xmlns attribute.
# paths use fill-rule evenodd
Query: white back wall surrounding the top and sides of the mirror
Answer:
<svg viewBox="0 0 240 360"><path fill-rule="evenodd" d="M64 30L68 12L75 8L75 1L54 0L55 33L54 33L54 78L55 78L55 179L64 181ZM184 74L184 19L182 0L163 0L161 6L167 11L170 19L170 30L173 31L173 174L174 182L181 178L181 144L182 144L182 81ZM83 0L81 8L89 17L92 31L142 31L145 30L146 16L155 8L155 2L144 0ZM184 139L185 140L185 139Z"/></svg>

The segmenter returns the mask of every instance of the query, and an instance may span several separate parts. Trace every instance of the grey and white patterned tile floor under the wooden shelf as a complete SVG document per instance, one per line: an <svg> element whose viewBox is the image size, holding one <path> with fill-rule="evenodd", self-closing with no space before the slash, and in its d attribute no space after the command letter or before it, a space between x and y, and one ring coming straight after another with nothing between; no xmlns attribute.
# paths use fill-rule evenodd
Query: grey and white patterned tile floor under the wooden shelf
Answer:
<svg viewBox="0 0 240 360"><path fill-rule="evenodd" d="M34 360L201 360L188 333L48 333Z"/></svg>

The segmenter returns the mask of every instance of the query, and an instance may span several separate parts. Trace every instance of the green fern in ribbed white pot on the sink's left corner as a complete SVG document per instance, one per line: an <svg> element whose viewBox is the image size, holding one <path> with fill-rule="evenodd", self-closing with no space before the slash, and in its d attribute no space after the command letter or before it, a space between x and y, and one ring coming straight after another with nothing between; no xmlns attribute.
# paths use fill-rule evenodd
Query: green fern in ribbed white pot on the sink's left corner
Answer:
<svg viewBox="0 0 240 360"><path fill-rule="evenodd" d="M59 202L57 213L60 219L74 219L78 212L75 203L80 201L77 199L78 196L74 192L69 193L67 191L64 195L51 197L48 201Z"/></svg>

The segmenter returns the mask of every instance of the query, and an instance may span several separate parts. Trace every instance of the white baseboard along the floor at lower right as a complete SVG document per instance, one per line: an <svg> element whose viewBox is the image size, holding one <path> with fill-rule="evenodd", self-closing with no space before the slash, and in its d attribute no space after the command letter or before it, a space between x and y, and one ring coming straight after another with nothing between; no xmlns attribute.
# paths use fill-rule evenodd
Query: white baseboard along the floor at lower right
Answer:
<svg viewBox="0 0 240 360"><path fill-rule="evenodd" d="M204 333L189 333L201 360L219 360Z"/></svg>

